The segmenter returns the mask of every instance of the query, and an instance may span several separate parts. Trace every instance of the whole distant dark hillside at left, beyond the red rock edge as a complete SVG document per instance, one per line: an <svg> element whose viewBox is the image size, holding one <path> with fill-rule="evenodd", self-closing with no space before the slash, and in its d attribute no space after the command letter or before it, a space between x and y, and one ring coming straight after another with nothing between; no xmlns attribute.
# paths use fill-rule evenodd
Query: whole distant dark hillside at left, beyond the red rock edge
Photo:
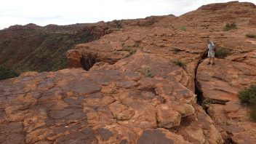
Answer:
<svg viewBox="0 0 256 144"><path fill-rule="evenodd" d="M109 33L106 23L15 25L0 31L0 65L17 72L67 68L65 52Z"/></svg>

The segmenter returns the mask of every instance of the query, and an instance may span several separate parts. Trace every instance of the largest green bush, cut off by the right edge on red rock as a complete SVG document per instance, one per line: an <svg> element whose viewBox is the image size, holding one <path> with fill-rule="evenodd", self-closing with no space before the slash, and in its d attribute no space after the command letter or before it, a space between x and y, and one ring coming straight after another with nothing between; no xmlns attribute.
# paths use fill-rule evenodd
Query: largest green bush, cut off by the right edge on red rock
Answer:
<svg viewBox="0 0 256 144"><path fill-rule="evenodd" d="M256 85L251 84L249 88L242 89L239 92L239 98L241 103L245 103L252 107L249 114L251 119L256 121Z"/></svg>

